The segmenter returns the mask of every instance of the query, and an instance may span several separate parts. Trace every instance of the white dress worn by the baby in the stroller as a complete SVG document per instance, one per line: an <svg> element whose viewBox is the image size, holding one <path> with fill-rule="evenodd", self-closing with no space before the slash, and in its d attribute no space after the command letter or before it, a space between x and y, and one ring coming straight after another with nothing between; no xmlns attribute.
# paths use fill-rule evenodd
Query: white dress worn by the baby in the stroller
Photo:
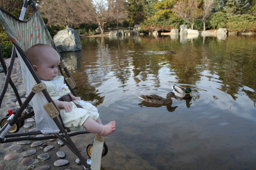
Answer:
<svg viewBox="0 0 256 170"><path fill-rule="evenodd" d="M58 100L62 96L69 95L70 90L64 83L64 77L58 75L52 81L42 80L46 85L46 90L49 92L52 99ZM77 108L74 102L81 105L83 108ZM71 112L66 112L65 109L60 109L62 121L66 127L82 126L84 121L90 116L94 121L99 118L98 109L90 103L84 101L71 101L73 108Z"/></svg>

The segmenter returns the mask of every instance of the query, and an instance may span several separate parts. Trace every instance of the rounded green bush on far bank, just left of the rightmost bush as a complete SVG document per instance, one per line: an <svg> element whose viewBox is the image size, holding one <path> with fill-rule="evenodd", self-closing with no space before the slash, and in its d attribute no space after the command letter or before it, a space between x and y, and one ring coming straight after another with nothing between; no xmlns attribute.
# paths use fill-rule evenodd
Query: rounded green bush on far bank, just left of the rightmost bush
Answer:
<svg viewBox="0 0 256 170"><path fill-rule="evenodd" d="M213 29L225 28L227 23L226 14L223 12L216 12L210 17L209 22Z"/></svg>

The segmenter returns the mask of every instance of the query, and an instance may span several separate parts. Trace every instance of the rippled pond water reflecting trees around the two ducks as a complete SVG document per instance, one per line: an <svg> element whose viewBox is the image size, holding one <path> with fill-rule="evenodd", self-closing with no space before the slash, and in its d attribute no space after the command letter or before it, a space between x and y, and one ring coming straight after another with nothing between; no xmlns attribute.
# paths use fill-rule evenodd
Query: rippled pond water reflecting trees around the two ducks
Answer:
<svg viewBox="0 0 256 170"><path fill-rule="evenodd" d="M107 36L81 43L82 51L61 54L77 95L97 106L103 123L117 123L104 138L102 168L255 169L256 36ZM193 98L167 106L138 98L165 97L174 84L190 87ZM76 145L86 149L86 138L75 137Z"/></svg>

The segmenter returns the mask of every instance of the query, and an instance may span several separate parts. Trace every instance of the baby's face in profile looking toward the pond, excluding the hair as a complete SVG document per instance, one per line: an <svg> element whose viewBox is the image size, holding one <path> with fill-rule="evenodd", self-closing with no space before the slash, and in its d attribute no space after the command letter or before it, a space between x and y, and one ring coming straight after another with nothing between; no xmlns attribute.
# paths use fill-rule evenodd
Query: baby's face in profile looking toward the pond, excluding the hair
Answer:
<svg viewBox="0 0 256 170"><path fill-rule="evenodd" d="M41 62L37 64L37 75L41 80L51 81L58 75L60 56L54 49L51 49L46 50L41 57Z"/></svg>

